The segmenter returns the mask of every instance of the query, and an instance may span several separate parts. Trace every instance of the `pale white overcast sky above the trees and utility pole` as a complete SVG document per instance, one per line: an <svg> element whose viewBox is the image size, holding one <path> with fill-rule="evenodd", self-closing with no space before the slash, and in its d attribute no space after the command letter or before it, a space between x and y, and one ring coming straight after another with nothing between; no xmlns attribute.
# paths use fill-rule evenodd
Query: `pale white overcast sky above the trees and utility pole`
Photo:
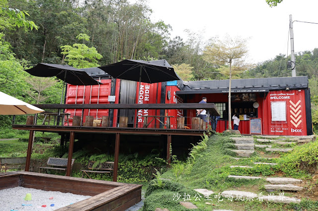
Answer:
<svg viewBox="0 0 318 211"><path fill-rule="evenodd" d="M226 34L249 38L248 60L258 63L279 53L290 54L289 15L293 21L318 23L318 0L283 0L269 7L265 0L148 0L152 21L172 27L171 38L187 40L185 29L204 39ZM318 48L318 24L294 22L295 52Z"/></svg>

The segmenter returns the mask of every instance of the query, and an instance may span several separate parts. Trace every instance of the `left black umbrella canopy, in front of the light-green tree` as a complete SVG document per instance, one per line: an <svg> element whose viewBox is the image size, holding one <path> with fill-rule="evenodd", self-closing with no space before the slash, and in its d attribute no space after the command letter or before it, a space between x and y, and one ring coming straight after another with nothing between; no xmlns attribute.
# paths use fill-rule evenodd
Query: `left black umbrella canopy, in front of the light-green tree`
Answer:
<svg viewBox="0 0 318 211"><path fill-rule="evenodd" d="M72 85L98 85L101 84L85 71L62 64L38 63L35 67L26 69L26 72L38 77L53 77Z"/></svg>

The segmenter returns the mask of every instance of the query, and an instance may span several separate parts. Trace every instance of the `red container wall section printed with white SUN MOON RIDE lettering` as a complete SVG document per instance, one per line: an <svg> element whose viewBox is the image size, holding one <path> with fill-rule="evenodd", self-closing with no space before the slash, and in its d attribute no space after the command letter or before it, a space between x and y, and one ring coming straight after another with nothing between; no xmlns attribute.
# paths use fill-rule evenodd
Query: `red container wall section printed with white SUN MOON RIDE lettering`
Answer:
<svg viewBox="0 0 318 211"><path fill-rule="evenodd" d="M139 89L140 88L140 89ZM161 98L161 83L154 83L154 84L148 84L148 83L141 83L139 86L139 82L137 83L137 93L136 96L138 98L138 91L139 91L139 101L136 100L136 104L159 104L160 98ZM141 109L138 110L138 127L144 126L144 119L143 116L159 116L160 110L154 110L154 109ZM159 121L153 118L148 118L149 124L148 128L159 128ZM136 121L136 119L135 119Z"/></svg>

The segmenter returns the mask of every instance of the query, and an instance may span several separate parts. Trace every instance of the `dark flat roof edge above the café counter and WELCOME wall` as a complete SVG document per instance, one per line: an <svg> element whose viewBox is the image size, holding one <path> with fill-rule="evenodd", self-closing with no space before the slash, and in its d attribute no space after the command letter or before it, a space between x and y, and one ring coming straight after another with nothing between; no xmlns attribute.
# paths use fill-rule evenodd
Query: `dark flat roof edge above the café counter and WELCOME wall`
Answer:
<svg viewBox="0 0 318 211"><path fill-rule="evenodd" d="M280 78L249 78L232 79L231 89L266 89L284 90L308 88L308 76ZM184 81L179 94L189 94L182 91L229 90L229 80L214 81ZM199 92L193 92L199 93Z"/></svg>

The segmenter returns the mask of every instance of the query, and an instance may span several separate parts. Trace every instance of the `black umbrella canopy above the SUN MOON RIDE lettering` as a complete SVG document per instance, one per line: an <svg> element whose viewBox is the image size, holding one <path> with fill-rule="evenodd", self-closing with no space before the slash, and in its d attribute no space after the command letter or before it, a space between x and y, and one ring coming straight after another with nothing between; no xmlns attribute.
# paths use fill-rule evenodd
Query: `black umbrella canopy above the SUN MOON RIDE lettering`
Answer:
<svg viewBox="0 0 318 211"><path fill-rule="evenodd" d="M114 78L158 83L180 80L173 67L165 60L144 61L125 59L117 63L98 67Z"/></svg>

